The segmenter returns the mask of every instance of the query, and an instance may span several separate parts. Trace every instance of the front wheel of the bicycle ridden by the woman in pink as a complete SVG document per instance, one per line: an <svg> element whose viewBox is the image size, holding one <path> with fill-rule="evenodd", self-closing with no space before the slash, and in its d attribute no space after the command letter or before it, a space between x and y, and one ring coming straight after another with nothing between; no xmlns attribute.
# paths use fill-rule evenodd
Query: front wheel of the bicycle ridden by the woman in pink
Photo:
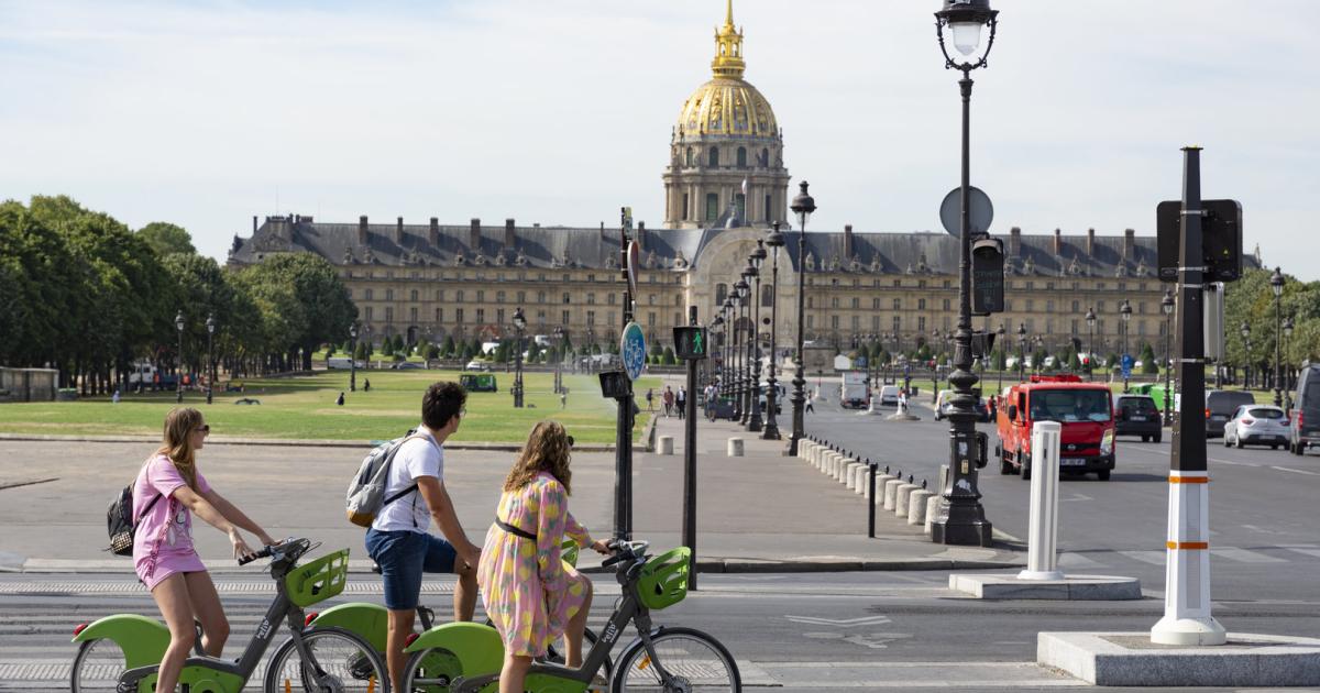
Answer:
<svg viewBox="0 0 1320 693"><path fill-rule="evenodd" d="M385 690L385 665L362 638L342 628L313 628L301 638L312 656L304 659L297 642L285 640L265 669L265 693Z"/></svg>

